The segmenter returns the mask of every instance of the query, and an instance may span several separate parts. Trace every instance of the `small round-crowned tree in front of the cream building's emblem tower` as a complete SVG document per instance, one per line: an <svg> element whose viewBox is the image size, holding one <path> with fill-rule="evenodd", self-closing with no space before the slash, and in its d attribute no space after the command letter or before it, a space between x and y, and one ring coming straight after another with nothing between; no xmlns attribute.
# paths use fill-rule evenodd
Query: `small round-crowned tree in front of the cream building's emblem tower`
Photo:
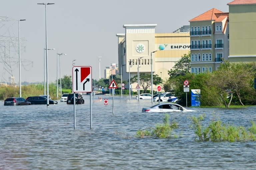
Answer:
<svg viewBox="0 0 256 170"><path fill-rule="evenodd" d="M138 82L138 75L131 78L131 83ZM163 80L157 74L153 74L153 84L161 84ZM147 89L151 87L151 74L140 73L140 85L144 90L144 93L147 92Z"/></svg>

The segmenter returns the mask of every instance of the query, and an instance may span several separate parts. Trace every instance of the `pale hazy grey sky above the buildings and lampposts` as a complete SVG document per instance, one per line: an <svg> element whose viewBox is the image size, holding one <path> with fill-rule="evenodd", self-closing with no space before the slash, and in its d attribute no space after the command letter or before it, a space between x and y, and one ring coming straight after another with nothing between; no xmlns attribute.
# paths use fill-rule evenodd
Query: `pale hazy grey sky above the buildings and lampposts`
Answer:
<svg viewBox="0 0 256 170"><path fill-rule="evenodd" d="M57 53L61 56L61 75L72 74L72 61L77 66L92 66L92 77L104 77L104 68L118 63L117 33L125 33L124 24L157 24L156 33L171 33L188 20L216 8L228 12L227 3L232 0L5 0L1 1L0 18L26 19L20 21L21 81L44 81L45 48L45 6L37 3L55 3L47 5L47 39L49 82L57 77ZM18 21L0 21L1 36L18 37ZM26 41L23 41L23 40ZM17 42L18 43L18 42ZM9 45L5 44L9 48ZM25 50L24 50L25 46ZM3 47L0 57L3 58ZM13 51L10 47L10 51ZM16 51L18 48L16 48ZM8 50L6 49L6 52ZM11 52L10 55L12 56ZM12 58L18 61L18 52ZM2 61L2 59L1 59ZM31 62L32 61L33 64ZM15 81L19 81L18 62L11 62ZM0 62L0 76L8 80L4 63ZM3 75L5 73L5 75ZM59 77L59 73L58 73Z"/></svg>

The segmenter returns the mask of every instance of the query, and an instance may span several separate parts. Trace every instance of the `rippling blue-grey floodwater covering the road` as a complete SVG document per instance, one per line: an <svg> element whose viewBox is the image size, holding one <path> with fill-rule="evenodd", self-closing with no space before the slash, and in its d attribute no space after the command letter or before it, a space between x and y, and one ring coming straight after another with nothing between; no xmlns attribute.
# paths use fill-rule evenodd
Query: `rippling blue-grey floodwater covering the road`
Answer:
<svg viewBox="0 0 256 170"><path fill-rule="evenodd" d="M248 128L256 121L256 107L168 113L178 123L178 138L136 138L137 130L162 123L164 114L142 113L151 100L138 102L135 96L115 96L113 114L112 97L99 97L103 100L92 103L92 129L89 95L76 105L76 129L73 105L3 106L0 101L0 169L255 169L256 141L195 141L189 117L206 114L203 123L215 116Z"/></svg>

